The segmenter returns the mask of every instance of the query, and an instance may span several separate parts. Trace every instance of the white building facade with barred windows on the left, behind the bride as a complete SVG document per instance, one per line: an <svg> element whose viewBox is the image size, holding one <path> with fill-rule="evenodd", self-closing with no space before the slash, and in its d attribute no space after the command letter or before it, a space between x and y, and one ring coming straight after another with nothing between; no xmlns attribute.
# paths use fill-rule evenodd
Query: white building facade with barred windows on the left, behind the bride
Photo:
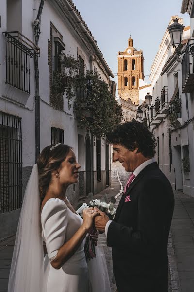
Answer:
<svg viewBox="0 0 194 292"><path fill-rule="evenodd" d="M2 0L0 15L1 239L16 232L26 183L45 146L60 142L74 148L80 180L67 196L75 206L79 198L111 183L110 146L79 129L65 94L52 91L57 48L81 60L84 72L98 72L110 88L114 75L71 0Z"/></svg>

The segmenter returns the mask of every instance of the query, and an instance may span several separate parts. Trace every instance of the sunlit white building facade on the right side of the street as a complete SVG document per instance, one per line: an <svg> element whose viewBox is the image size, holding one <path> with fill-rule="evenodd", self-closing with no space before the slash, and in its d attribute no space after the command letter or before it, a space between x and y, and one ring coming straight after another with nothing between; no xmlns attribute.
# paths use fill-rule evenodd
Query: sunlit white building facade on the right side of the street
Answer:
<svg viewBox="0 0 194 292"><path fill-rule="evenodd" d="M173 16L169 24L174 18L183 23L182 18ZM190 27L185 27L182 50L190 38ZM194 196L194 104L192 95L185 90L188 88L183 76L186 62L183 56L177 59L166 30L151 68L153 97L149 114L151 130L157 141L159 167L174 189Z"/></svg>

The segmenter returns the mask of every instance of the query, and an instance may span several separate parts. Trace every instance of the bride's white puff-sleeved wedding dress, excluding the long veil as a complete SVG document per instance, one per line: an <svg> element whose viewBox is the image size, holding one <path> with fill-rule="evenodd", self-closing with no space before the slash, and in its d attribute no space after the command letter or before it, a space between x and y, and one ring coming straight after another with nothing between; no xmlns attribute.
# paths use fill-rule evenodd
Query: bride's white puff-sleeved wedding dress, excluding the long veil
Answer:
<svg viewBox="0 0 194 292"><path fill-rule="evenodd" d="M84 253L84 241L65 264L56 270L50 264L59 248L80 228L83 219L73 213L64 201L49 199L41 213L42 237L48 254L45 256L47 292L108 292L108 273L104 254L96 247L97 257L88 265Z"/></svg>

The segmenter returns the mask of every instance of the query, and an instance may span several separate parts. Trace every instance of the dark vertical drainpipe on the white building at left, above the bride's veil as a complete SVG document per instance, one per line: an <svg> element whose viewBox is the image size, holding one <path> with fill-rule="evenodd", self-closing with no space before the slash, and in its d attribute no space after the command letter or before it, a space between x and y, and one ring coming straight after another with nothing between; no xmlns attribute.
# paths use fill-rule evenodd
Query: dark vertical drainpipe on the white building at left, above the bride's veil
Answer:
<svg viewBox="0 0 194 292"><path fill-rule="evenodd" d="M38 41L40 36L40 23L41 15L45 0L41 0L38 9L37 18L34 21L34 39L35 45L38 47ZM38 57L34 58L34 73L35 73L35 161L37 162L40 154L40 92L39 92L39 68Z"/></svg>

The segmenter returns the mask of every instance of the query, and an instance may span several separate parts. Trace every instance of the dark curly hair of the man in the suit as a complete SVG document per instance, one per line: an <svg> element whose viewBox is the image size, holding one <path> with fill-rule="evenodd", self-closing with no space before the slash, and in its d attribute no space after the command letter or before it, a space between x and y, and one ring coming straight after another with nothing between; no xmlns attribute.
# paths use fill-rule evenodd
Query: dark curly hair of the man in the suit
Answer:
<svg viewBox="0 0 194 292"><path fill-rule="evenodd" d="M120 144L129 151L138 148L138 152L146 158L151 158L156 153L155 137L143 123L137 121L117 125L107 135L107 139L111 144Z"/></svg>

